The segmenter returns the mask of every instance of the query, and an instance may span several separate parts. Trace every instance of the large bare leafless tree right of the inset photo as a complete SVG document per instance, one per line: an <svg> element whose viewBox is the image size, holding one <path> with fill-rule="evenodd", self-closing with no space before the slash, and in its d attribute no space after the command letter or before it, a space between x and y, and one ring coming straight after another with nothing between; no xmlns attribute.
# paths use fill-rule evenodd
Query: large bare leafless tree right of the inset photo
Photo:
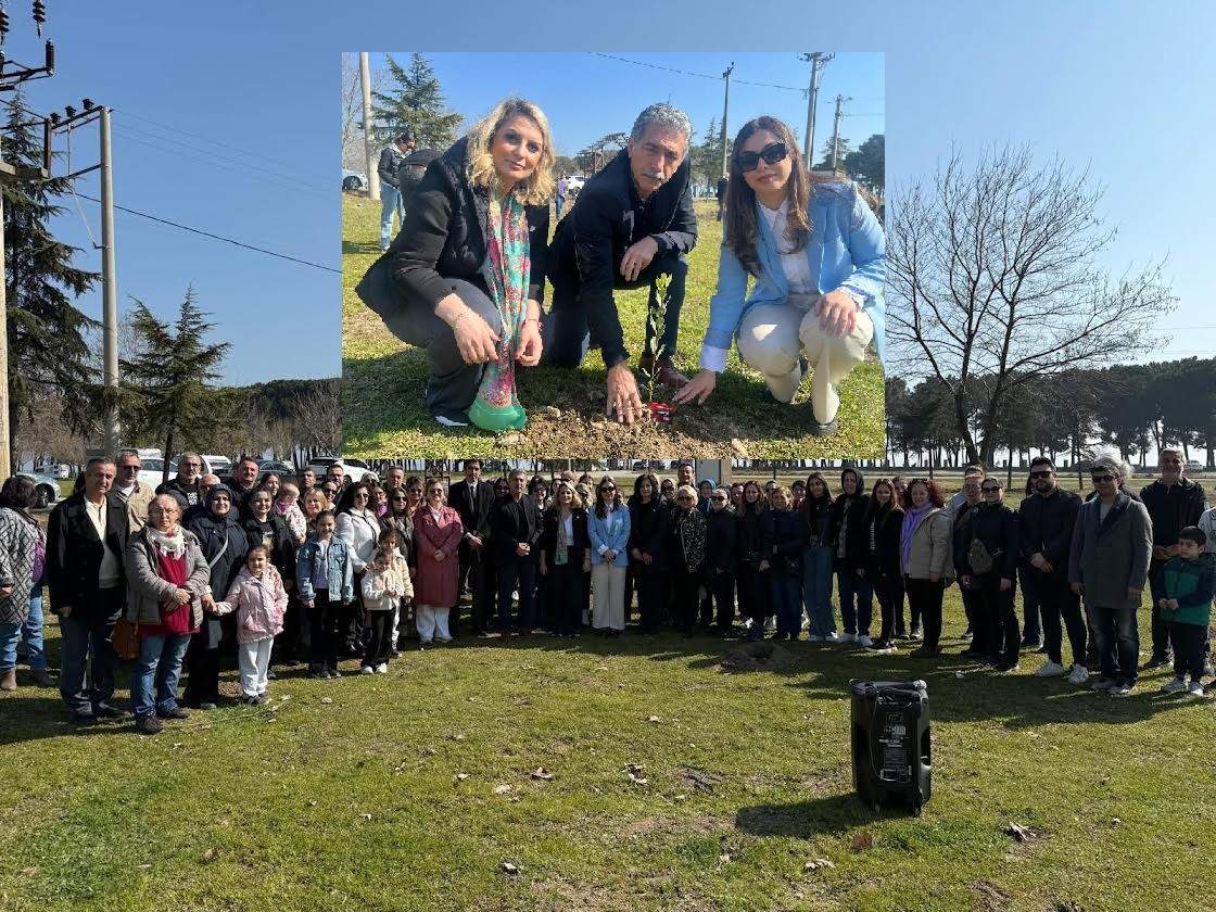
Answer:
<svg viewBox="0 0 1216 912"><path fill-rule="evenodd" d="M1001 410L1036 377L1142 355L1177 300L1164 260L1113 281L1103 190L1029 147L956 151L896 193L886 250L893 366L941 383L968 460L991 465ZM1047 406L1047 404L1043 404ZM980 416L973 430L970 418Z"/></svg>

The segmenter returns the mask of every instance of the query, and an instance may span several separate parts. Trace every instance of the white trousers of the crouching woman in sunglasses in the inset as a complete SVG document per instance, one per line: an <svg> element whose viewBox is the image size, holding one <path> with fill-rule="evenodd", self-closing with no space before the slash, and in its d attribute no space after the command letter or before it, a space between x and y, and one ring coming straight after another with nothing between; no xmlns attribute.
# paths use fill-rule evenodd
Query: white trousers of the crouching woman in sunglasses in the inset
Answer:
<svg viewBox="0 0 1216 912"><path fill-rule="evenodd" d="M739 326L739 358L764 375L777 401L790 402L803 379L798 356L805 354L815 372L811 405L816 420L826 424L840 409L837 387L866 358L874 323L866 311L858 310L851 333L826 333L815 315L818 299L817 294L790 294L784 304L751 308Z"/></svg>

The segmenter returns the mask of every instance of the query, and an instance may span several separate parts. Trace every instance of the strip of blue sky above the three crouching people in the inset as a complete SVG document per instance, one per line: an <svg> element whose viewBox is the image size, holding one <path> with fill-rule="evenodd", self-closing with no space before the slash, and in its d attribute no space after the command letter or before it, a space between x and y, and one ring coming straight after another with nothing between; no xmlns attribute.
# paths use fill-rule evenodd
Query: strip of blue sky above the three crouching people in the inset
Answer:
<svg viewBox="0 0 1216 912"><path fill-rule="evenodd" d="M637 113L655 101L683 108L692 119L693 142L704 142L711 118L721 128L725 101L721 75L732 62L728 124L732 137L744 120L760 114L778 117L793 126L800 143L806 135L806 97L801 90L810 81L810 64L793 51L553 52L530 55L527 66L518 66L518 54L417 50L434 67L451 108L471 120L511 94L536 102L548 118L559 154L573 156L610 133L629 133ZM399 64L409 67L410 51L389 54ZM383 55L370 54L368 62L372 69L387 68ZM497 75L491 80L486 79L488 73ZM841 54L832 60L820 81L816 153L832 134L838 94L852 98L845 106L849 117L841 122L840 134L851 140L854 147L872 134L882 133L884 86L882 54Z"/></svg>

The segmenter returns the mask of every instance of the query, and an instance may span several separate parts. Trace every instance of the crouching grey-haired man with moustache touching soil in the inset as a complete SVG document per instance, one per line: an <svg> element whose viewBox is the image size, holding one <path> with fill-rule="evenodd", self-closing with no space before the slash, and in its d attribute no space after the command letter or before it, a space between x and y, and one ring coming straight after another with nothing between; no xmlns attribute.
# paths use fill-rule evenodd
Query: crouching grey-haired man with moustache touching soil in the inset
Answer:
<svg viewBox="0 0 1216 912"><path fill-rule="evenodd" d="M646 321L646 351L638 366L674 389L688 379L672 362L680 308L688 275L687 254L697 243L692 208L688 116L671 105L651 105L637 116L629 145L579 192L558 223L550 254L553 304L545 325L545 359L558 367L582 364L598 345L608 368L607 413L631 424L643 415L617 288L649 287L649 308L668 277L662 328Z"/></svg>

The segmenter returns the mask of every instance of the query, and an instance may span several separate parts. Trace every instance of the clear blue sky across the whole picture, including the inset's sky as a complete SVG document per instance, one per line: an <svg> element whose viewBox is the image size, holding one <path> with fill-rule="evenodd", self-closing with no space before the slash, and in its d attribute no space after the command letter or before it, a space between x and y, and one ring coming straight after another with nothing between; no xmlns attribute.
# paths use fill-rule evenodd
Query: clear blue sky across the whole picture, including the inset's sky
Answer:
<svg viewBox="0 0 1216 912"><path fill-rule="evenodd" d="M1216 33L1211 5L1184 2L1149 11L1142 4L970 2L741 7L709 0L696 7L614 5L602 12L518 11L466 0L458 23L450 5L413 4L384 15L372 5L319 0L206 5L50 4L46 34L57 46L57 73L28 84L27 103L49 112L88 95L114 112L114 193L120 206L309 260L339 266L339 55L360 44L437 52L517 49L505 66L454 73L445 88L482 92L484 111L512 90L528 90L546 57L529 51L578 51L569 72L544 89L542 107L558 146L576 151L587 137L627 129L641 105L670 94L693 128L721 116L721 81L679 77L590 57L662 54L677 69L720 74L736 62L731 108L739 116L775 106L803 129L798 92L759 90L744 79L801 86L803 51L837 51L824 71L821 101L854 95L858 116L885 113L888 184L930 174L957 146L964 154L1007 141L1035 143L1042 159L1059 154L1088 168L1107 186L1105 210L1120 227L1108 255L1119 274L1169 257L1180 308L1162 316L1158 358L1216 350L1216 315L1207 264L1216 190L1203 163L1211 159L1216 126ZM6 54L40 60L27 4L10 4ZM410 46L415 45L415 46ZM713 49L727 49L714 51ZM676 50L672 50L676 49ZM687 51L685 50L687 49ZM834 84L846 74L846 52L883 52L885 91L860 94ZM761 56L755 56L761 55ZM769 78L759 78L771 62ZM693 66L694 62L704 66ZM713 64L713 66L710 66ZM585 73L610 79L607 91ZM648 75L643 75L648 74ZM492 86L469 88L477 77ZM541 89L531 92L537 98ZM861 98L882 98L882 107ZM550 101L552 98L552 101ZM482 103L475 102L480 100ZM821 106L818 137L831 106ZM558 113L561 112L561 118ZM586 112L586 113L580 113ZM734 119L732 123L742 123ZM845 122L854 141L873 129ZM603 129L601 129L603 126ZM224 145L216 145L224 143ZM77 164L95 154L96 126L74 142ZM235 161L229 161L235 159ZM95 159L92 159L95 161ZM92 162L90 162L92 163ZM259 170L265 169L265 170ZM95 176L79 190L98 196ZM81 202L94 235L98 208ZM119 306L134 295L171 315L190 282L201 305L233 343L227 377L248 383L272 377L339 372L339 276L192 236L119 213ZM85 250L78 263L100 269L80 215L56 226ZM100 315L96 292L80 302ZM1172 342L1165 338L1172 336Z"/></svg>

